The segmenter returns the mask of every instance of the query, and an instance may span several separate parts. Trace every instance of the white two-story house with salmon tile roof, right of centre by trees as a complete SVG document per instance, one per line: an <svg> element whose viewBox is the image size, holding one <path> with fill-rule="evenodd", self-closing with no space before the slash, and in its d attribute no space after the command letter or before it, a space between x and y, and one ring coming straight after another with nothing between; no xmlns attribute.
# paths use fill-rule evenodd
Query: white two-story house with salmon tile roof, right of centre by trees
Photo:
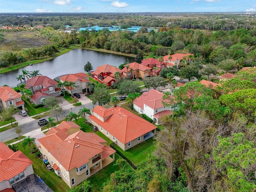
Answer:
<svg viewBox="0 0 256 192"><path fill-rule="evenodd" d="M162 116L171 115L173 110L178 109L176 103L173 103L171 106L164 106L163 102L168 102L168 100L163 100L163 96L163 93L151 89L134 99L133 108L139 114L147 115L158 125Z"/></svg>

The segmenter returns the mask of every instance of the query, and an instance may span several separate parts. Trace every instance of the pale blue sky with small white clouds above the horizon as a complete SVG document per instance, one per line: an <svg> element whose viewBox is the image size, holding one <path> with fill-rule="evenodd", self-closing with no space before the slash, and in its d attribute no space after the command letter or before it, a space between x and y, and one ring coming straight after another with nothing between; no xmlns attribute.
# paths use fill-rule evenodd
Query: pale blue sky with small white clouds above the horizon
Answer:
<svg viewBox="0 0 256 192"><path fill-rule="evenodd" d="M0 0L11 12L256 12L256 0Z"/></svg>

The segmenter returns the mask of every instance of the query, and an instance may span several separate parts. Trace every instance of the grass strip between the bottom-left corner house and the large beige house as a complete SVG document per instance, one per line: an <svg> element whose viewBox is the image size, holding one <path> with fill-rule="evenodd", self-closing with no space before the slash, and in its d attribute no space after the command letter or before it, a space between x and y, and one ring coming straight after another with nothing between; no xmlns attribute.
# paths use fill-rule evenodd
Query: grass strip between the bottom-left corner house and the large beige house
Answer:
<svg viewBox="0 0 256 192"><path fill-rule="evenodd" d="M58 177L54 171L48 171L46 170L46 167L44 165L44 162L36 157L36 154L30 154L30 148L29 146L26 146L23 148L22 142L19 142L16 144L18 146L18 149L22 151L30 160L33 162L33 168L34 173L39 175L42 180L54 191L54 192L65 192L69 191L70 188L68 185L60 178ZM33 147L34 144L33 144Z"/></svg>

